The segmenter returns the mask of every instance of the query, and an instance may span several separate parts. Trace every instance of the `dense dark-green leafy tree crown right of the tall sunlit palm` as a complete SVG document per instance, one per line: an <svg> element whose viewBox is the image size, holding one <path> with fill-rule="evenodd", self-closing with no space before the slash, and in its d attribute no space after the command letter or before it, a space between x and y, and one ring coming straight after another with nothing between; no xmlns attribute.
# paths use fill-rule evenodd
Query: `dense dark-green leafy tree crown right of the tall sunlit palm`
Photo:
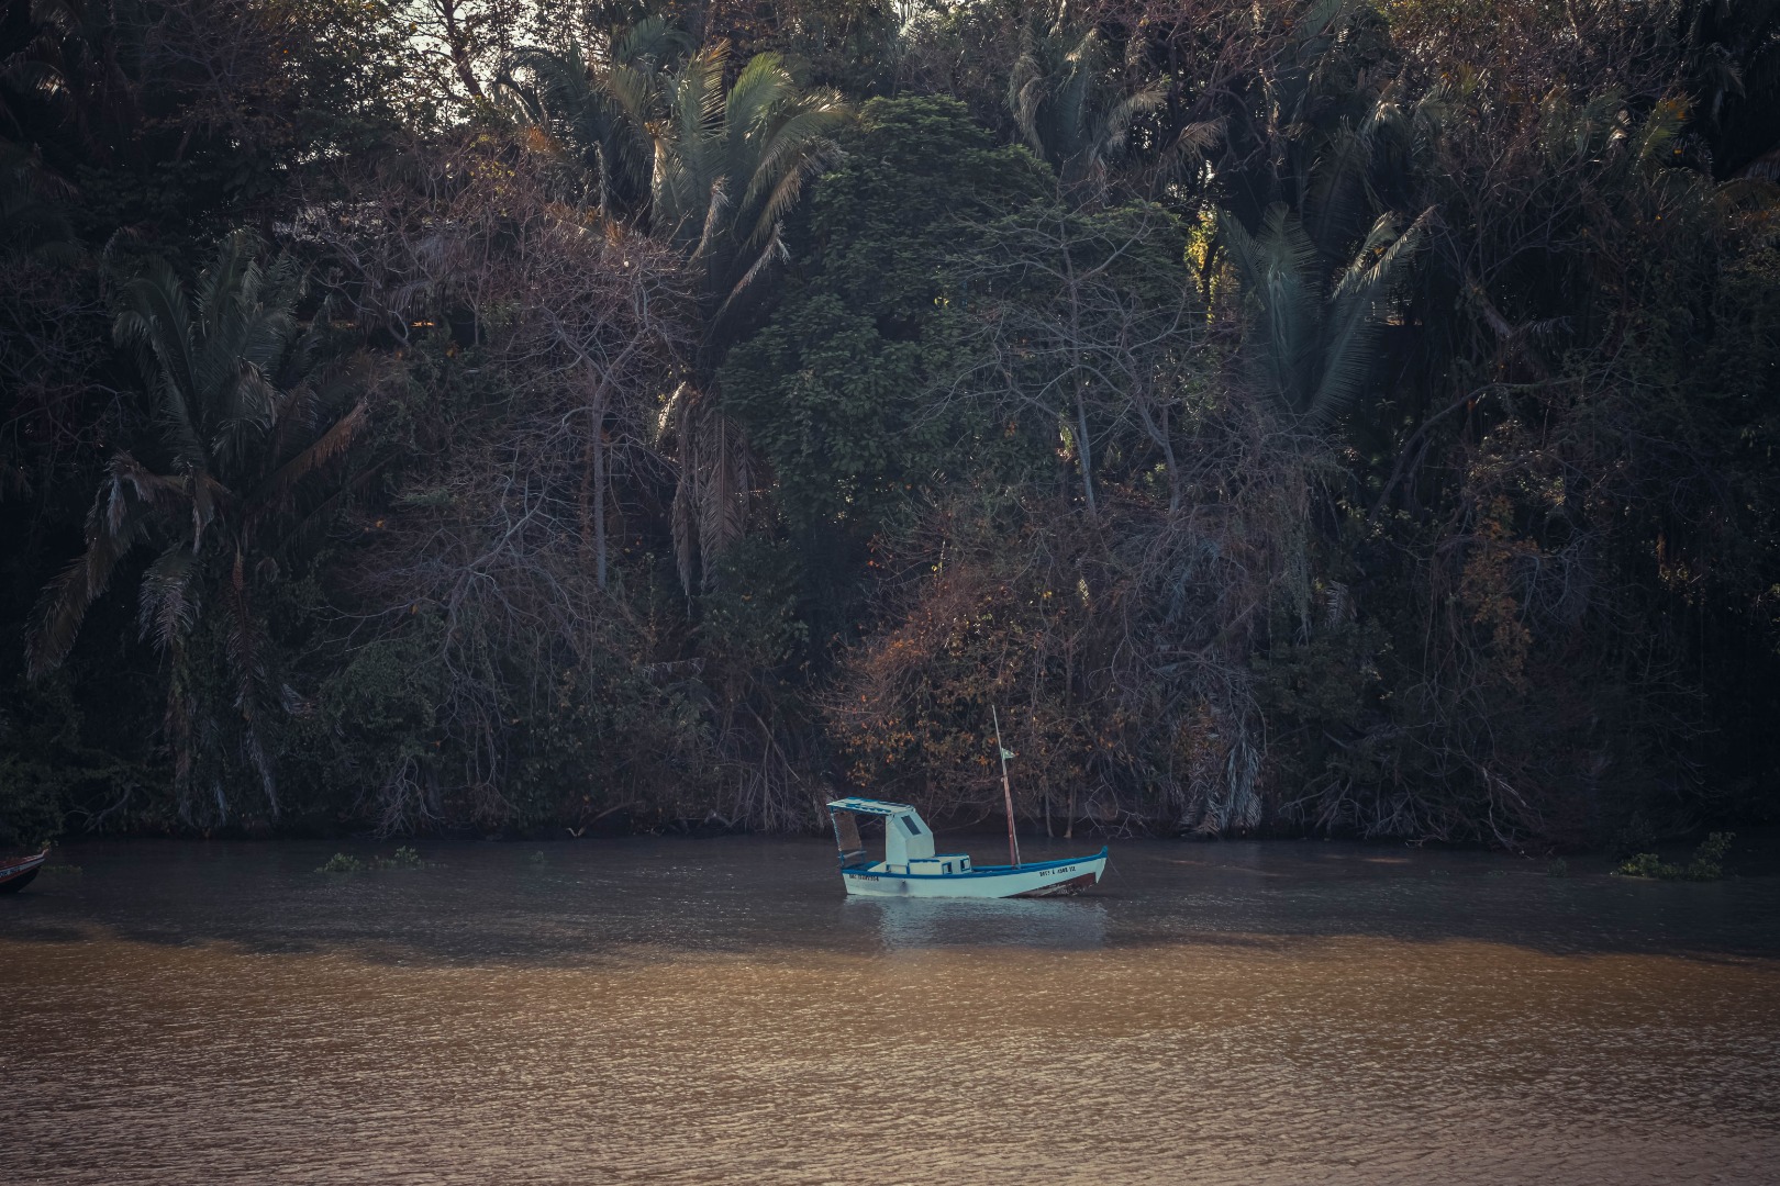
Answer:
<svg viewBox="0 0 1780 1186"><path fill-rule="evenodd" d="M945 263L1048 178L943 98L872 100L842 146L810 194L797 279L732 352L723 398L771 462L794 532L869 539L993 439L991 423L926 398L956 366Z"/></svg>

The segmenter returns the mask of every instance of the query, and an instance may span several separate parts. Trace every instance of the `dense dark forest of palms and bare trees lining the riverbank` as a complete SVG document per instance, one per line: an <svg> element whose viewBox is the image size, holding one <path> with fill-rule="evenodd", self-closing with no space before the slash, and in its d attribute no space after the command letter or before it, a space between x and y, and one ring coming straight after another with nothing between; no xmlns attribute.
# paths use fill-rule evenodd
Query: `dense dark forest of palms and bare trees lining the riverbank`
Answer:
<svg viewBox="0 0 1780 1186"><path fill-rule="evenodd" d="M1776 0L4 0L0 845L1773 818Z"/></svg>

